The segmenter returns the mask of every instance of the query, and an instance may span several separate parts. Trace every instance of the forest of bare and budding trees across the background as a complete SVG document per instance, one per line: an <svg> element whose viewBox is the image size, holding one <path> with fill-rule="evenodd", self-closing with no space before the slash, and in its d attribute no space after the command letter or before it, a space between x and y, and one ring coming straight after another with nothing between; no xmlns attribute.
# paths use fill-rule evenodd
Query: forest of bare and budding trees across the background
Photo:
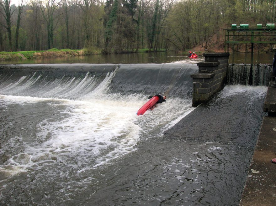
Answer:
<svg viewBox="0 0 276 206"><path fill-rule="evenodd" d="M276 0L0 0L0 51L208 50L231 24L275 20Z"/></svg>

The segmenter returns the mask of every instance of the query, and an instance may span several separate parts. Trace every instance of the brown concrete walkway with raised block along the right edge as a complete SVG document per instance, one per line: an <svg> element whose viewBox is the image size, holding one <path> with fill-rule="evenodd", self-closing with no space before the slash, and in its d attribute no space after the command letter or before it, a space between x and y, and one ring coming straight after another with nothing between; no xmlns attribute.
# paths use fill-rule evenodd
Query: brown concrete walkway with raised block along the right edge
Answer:
<svg viewBox="0 0 276 206"><path fill-rule="evenodd" d="M268 87L264 103L268 116L263 118L257 145L242 193L240 206L276 205L276 88Z"/></svg>

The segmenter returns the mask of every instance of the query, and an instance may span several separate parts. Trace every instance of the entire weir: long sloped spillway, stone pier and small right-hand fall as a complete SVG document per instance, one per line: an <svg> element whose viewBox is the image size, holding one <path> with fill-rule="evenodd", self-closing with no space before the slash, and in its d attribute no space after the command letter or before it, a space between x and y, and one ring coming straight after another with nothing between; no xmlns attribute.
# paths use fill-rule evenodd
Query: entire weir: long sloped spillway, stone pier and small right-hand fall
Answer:
<svg viewBox="0 0 276 206"><path fill-rule="evenodd" d="M74 89L76 84L79 84L83 91L91 92L107 75L113 73L109 87L113 93L152 95L165 92L170 97L180 98L192 95L193 106L198 106L209 101L226 84L248 85L252 76L253 85L268 86L271 79L270 65L253 65L250 75L250 64L228 64L229 53L203 55L205 61L197 65L181 63L0 65L0 80L6 86L32 84L28 90L20 91L22 95L37 93L36 88L48 88L50 91L59 87L59 84L66 84L64 88L68 88L64 90L71 96L69 91ZM195 73L197 70L199 72ZM192 82L190 77L193 77ZM81 81L86 82L82 84ZM60 92L65 94L64 90Z"/></svg>

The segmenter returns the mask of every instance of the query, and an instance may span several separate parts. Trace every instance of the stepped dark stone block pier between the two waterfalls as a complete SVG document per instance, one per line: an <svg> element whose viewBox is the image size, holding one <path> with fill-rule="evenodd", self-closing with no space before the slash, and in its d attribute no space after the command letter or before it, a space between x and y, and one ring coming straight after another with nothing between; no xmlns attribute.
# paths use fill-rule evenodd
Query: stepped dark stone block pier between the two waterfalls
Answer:
<svg viewBox="0 0 276 206"><path fill-rule="evenodd" d="M204 62L199 62L199 72L192 74L193 106L207 102L226 84L226 73L230 53L203 53Z"/></svg>

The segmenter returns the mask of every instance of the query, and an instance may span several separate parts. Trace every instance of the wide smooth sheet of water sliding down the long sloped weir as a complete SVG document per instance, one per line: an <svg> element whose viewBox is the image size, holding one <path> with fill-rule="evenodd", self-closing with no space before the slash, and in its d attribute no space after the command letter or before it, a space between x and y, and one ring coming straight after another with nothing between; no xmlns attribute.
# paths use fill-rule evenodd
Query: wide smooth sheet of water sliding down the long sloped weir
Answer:
<svg viewBox="0 0 276 206"><path fill-rule="evenodd" d="M194 64L0 65L3 95L79 99L103 88L108 93L191 95ZM75 91L74 93L72 91Z"/></svg>

